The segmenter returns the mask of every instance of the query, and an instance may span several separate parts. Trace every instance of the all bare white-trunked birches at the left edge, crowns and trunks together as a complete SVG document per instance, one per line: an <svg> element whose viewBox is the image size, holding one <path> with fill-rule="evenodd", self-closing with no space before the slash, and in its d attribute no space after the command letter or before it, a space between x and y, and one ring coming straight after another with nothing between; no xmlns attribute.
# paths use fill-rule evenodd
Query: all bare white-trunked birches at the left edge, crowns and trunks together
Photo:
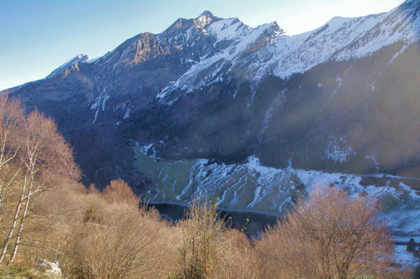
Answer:
<svg viewBox="0 0 420 279"><path fill-rule="evenodd" d="M80 172L55 123L37 110L25 115L20 103L7 96L0 96L0 172L0 213L6 207L14 212L9 220L0 218L10 225L1 248L1 264L9 248L8 263L15 259L31 201L47 189L78 180ZM10 189L20 194L9 199Z"/></svg>

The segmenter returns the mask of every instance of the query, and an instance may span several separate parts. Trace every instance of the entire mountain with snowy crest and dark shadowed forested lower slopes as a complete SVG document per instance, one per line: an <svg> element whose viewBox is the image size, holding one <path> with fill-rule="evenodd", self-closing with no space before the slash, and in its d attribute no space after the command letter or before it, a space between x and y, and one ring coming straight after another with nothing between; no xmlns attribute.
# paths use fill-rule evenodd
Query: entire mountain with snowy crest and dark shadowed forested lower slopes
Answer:
<svg viewBox="0 0 420 279"><path fill-rule="evenodd" d="M6 92L55 117L85 183L151 183L134 141L160 157L418 176L419 10L407 0L293 36L204 11Z"/></svg>

